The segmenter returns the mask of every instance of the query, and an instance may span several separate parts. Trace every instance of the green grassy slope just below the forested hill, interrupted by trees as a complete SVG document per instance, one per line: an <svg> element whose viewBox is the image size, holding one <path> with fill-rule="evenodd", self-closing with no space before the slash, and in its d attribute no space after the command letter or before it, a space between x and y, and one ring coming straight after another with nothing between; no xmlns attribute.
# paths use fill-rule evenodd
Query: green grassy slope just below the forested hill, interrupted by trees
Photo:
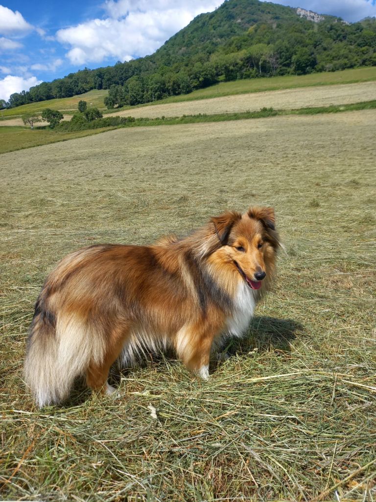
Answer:
<svg viewBox="0 0 376 502"><path fill-rule="evenodd" d="M253 78L248 80L236 80L234 82L221 82L211 87L207 87L206 89L196 90L191 94L171 96L160 101L155 101L154 103L145 103L142 106L179 101L192 101L196 99L229 96L232 94L244 94L247 92L310 87L314 85L365 82L370 80L376 80L376 67L356 68L337 72L312 73L311 75L300 76L287 75L272 78ZM71 98L51 99L50 101L26 104L9 110L3 110L0 112L0 119L1 117L6 118L20 116L26 112L38 112L43 108L54 108L62 111L72 110L77 108L78 101L81 99L87 101L88 103L93 103L93 106L96 106L104 111L105 106L103 99L107 96L107 93L107 90L92 90L85 94L81 94L80 96L73 96ZM132 106L124 106L121 109L132 109ZM114 110L105 111L110 113Z"/></svg>

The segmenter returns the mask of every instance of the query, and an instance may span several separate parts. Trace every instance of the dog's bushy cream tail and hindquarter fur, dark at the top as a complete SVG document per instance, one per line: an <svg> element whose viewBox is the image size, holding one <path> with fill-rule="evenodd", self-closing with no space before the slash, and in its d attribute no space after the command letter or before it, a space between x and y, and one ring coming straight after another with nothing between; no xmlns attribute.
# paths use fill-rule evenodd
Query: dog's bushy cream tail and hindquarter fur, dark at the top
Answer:
<svg viewBox="0 0 376 502"><path fill-rule="evenodd" d="M69 395L76 376L93 361L103 359L103 337L75 316L39 312L30 327L25 360L25 382L40 408Z"/></svg>

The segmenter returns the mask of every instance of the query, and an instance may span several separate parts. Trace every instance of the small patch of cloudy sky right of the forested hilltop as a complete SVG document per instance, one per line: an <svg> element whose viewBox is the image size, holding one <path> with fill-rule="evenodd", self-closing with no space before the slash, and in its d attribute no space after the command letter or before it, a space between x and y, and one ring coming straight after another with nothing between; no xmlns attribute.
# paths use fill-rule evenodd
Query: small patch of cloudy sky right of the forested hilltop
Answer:
<svg viewBox="0 0 376 502"><path fill-rule="evenodd" d="M302 7L318 14L338 16L345 21L360 21L368 16L376 16L376 5L372 0L273 0L275 4Z"/></svg>

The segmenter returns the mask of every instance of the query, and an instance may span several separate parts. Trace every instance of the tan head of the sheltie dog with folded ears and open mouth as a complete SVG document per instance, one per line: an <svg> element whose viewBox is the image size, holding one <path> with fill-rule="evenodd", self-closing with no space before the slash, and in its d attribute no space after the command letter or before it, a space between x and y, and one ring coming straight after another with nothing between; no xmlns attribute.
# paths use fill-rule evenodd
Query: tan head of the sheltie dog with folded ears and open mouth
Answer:
<svg viewBox="0 0 376 502"><path fill-rule="evenodd" d="M237 270L251 289L260 289L274 268L279 247L272 207L227 211L211 219L219 240L215 252Z"/></svg>

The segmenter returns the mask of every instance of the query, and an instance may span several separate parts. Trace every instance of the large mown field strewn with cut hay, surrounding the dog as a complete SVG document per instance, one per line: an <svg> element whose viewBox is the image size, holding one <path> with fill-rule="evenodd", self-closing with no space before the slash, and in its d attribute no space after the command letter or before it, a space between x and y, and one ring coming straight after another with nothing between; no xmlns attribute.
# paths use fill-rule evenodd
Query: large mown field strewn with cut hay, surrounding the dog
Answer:
<svg viewBox="0 0 376 502"><path fill-rule="evenodd" d="M375 123L363 110L119 129L3 154L0 498L375 500ZM249 204L275 207L286 253L209 382L150 360L116 398L78 387L35 408L27 329L61 257Z"/></svg>

